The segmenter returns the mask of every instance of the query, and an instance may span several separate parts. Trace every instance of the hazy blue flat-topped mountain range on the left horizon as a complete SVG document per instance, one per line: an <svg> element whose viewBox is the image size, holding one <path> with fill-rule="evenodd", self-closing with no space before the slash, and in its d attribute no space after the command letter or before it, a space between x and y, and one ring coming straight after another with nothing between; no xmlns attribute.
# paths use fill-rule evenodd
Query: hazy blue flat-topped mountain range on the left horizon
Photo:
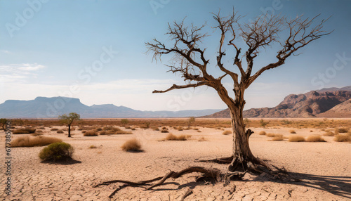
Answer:
<svg viewBox="0 0 351 201"><path fill-rule="evenodd" d="M116 106L84 105L78 98L37 97L34 100L6 100L0 104L1 118L57 118L58 115L76 112L81 118L124 117L200 117L220 110L140 111Z"/></svg>

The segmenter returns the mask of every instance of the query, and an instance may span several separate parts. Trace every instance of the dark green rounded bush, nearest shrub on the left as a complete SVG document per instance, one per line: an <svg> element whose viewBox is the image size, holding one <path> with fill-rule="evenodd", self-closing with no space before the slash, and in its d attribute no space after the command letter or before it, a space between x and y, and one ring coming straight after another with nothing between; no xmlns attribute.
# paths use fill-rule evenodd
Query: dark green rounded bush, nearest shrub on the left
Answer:
<svg viewBox="0 0 351 201"><path fill-rule="evenodd" d="M39 153L39 158L43 161L59 161L72 157L74 148L69 143L52 143Z"/></svg>

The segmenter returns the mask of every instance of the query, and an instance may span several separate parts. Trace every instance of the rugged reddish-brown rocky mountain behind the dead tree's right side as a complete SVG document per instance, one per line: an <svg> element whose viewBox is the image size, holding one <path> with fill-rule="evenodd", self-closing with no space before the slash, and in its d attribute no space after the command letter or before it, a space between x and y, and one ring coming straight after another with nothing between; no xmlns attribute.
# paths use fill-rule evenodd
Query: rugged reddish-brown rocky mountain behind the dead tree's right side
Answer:
<svg viewBox="0 0 351 201"><path fill-rule="evenodd" d="M286 96L274 108L244 110L244 117L351 117L351 86L310 91ZM206 117L230 118L229 109Z"/></svg>

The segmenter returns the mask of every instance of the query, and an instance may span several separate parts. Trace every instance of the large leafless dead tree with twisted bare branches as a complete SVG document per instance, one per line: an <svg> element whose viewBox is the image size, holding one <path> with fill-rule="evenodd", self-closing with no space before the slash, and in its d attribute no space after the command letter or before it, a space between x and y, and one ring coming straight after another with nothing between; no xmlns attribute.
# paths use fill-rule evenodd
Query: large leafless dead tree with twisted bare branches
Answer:
<svg viewBox="0 0 351 201"><path fill-rule="evenodd" d="M246 131L243 119L244 92L260 74L283 65L285 60L293 56L300 48L331 33L323 30L326 20L313 25L317 17L318 15L312 19L304 19L301 15L294 19L288 19L266 14L260 15L253 22L240 23L241 16L234 11L227 17L221 17L220 13L213 13L213 19L216 21L216 27L213 28L220 32L219 48L216 53L216 65L223 72L220 77L213 77L208 73L208 68L215 66L210 65L210 60L206 59L206 48L201 48L202 42L207 37L207 34L203 33L206 24L201 27L195 25L187 27L184 20L173 22L173 25L168 24L166 34L169 36L171 43L164 44L154 39L146 45L148 51L153 55L152 60L157 61L161 60L161 56L172 55L173 59L170 65L166 66L170 68L169 72L180 73L186 84L173 84L169 89L164 91L155 90L153 93L165 93L173 89L195 88L198 86L212 87L229 108L232 119L233 157L230 159L229 170L245 171L249 169L258 171L257 167L270 169L269 165L251 153L249 137L252 132ZM281 34L287 34L284 40L282 40ZM246 51L237 46L236 42L239 37L246 43ZM234 52L234 55L230 55L233 58L232 66L223 64L223 60L227 56L224 47L226 40L228 41L227 45ZM274 43L280 44L276 62L260 67L257 72L253 72L254 60L260 51ZM230 93L223 86L222 80L227 76L234 83L232 86L234 96L230 96Z"/></svg>

